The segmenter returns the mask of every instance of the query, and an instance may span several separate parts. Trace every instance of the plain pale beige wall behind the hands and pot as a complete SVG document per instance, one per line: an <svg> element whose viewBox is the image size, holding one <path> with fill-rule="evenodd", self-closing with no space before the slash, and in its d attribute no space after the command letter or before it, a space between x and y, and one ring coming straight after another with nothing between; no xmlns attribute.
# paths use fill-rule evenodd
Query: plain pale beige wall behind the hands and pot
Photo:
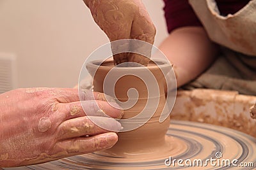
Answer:
<svg viewBox="0 0 256 170"><path fill-rule="evenodd" d="M143 2L159 45L163 2ZM17 87L73 87L86 57L107 42L82 0L0 0L0 53L17 55Z"/></svg>

